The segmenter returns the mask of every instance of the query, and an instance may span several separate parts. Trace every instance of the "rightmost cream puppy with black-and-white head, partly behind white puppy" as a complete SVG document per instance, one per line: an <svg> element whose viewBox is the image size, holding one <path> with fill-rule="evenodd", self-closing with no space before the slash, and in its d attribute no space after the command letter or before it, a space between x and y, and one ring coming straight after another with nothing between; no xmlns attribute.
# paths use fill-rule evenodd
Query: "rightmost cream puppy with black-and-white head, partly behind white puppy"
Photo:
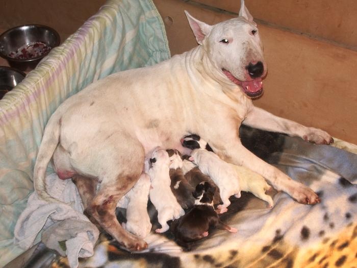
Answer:
<svg viewBox="0 0 357 268"><path fill-rule="evenodd" d="M184 147L187 147L191 150L197 150L200 148L210 148L207 142L201 139L198 135L186 136L182 139L182 143ZM227 164L231 166L231 168L235 169L235 172L237 174L236 177L239 181L239 186L242 191L249 191L253 193L254 196L266 201L268 203L269 208L274 205L272 198L265 193L265 191L270 189L271 186L265 181L265 179L261 175L243 166L237 166L230 163ZM240 193L236 194L236 197L239 198Z"/></svg>

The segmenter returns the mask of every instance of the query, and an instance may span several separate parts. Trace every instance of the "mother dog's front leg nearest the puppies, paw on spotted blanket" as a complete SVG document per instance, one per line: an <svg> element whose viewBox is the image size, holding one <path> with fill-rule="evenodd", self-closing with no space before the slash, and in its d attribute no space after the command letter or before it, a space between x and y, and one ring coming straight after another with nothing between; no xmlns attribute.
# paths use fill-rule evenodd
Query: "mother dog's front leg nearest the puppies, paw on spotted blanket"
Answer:
<svg viewBox="0 0 357 268"><path fill-rule="evenodd" d="M316 204L320 202L319 197L312 189L294 181L276 167L264 162L247 150L238 138L230 141L225 139L224 144L223 142L213 144L214 151L222 159L236 165L243 165L262 175L275 189L287 192L299 203ZM216 148L221 148L221 150L216 151Z"/></svg>

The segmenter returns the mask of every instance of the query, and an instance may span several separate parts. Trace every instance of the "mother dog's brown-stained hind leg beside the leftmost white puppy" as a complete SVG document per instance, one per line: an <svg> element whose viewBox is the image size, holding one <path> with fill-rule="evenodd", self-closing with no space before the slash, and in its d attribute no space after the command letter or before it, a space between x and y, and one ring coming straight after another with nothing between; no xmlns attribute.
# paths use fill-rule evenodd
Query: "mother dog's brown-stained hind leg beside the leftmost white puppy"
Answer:
<svg viewBox="0 0 357 268"><path fill-rule="evenodd" d="M123 135L113 137L114 142L106 142L105 160L101 159L101 176L99 189L87 211L105 231L114 237L120 245L129 251L140 251L147 248L141 238L122 228L117 221L115 208L118 201L139 179L144 166L144 149L138 140ZM128 146L130 144L130 146Z"/></svg>

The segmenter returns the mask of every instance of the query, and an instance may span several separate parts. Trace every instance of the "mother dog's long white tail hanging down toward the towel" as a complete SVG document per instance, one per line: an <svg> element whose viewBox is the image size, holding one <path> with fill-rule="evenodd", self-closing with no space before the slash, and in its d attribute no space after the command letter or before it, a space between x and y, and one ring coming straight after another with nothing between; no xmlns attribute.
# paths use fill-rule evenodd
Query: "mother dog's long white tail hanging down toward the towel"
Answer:
<svg viewBox="0 0 357 268"><path fill-rule="evenodd" d="M47 165L52 158L60 139L61 115L54 113L45 127L34 168L34 188L38 197L49 203L63 203L46 192L45 176Z"/></svg>

